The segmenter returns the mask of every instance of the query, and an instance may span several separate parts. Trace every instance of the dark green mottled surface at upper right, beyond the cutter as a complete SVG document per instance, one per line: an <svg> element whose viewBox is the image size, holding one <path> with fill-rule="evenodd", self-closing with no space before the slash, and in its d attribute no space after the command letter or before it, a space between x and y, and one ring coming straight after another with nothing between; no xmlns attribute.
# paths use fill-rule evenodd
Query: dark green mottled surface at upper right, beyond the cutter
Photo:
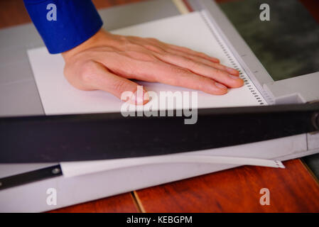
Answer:
<svg viewBox="0 0 319 227"><path fill-rule="evenodd" d="M259 19L263 3L270 6L270 21ZM319 71L319 24L299 1L239 0L220 6L274 80Z"/></svg>

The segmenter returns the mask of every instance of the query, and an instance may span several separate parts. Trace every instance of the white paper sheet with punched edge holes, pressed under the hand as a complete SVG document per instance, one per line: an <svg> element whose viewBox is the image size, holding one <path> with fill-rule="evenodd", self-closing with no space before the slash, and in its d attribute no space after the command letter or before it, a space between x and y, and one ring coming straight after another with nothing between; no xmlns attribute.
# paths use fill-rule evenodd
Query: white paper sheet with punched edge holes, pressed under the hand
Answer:
<svg viewBox="0 0 319 227"><path fill-rule="evenodd" d="M164 18L112 32L121 35L158 38L166 43L205 52L208 55L219 58L222 64L232 67L230 60L199 12ZM218 33L215 35L218 36ZM222 39L219 39L222 42ZM225 43L223 45L227 49L227 45ZM239 65L231 52L229 50L228 52L232 60ZM63 76L64 62L61 55L50 55L46 48L36 48L28 50L28 57L45 114L85 114L120 111L123 102L112 96L112 94L102 91L85 92L72 87ZM239 69L243 72L240 66ZM246 74L244 74L244 77L246 77L249 85L239 89L229 89L229 93L223 96L198 92L198 108L256 106L260 102L266 104L266 101L256 90L249 77ZM139 84L146 87L146 90L157 93L160 91L191 91L190 89L158 83L139 82ZM253 95L251 90L254 90L256 94ZM255 95L259 96L261 101L258 101ZM151 105L151 102L148 105Z"/></svg>

